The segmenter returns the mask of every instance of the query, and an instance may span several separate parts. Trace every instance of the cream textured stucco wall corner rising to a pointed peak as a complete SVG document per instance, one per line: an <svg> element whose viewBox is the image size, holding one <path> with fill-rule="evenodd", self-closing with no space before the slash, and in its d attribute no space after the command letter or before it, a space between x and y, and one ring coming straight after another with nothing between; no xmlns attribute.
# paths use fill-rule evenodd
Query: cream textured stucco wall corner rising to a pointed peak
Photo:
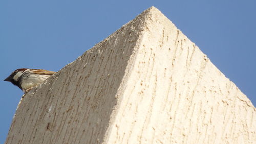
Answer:
<svg viewBox="0 0 256 144"><path fill-rule="evenodd" d="M6 143L255 143L255 113L152 7L27 93Z"/></svg>

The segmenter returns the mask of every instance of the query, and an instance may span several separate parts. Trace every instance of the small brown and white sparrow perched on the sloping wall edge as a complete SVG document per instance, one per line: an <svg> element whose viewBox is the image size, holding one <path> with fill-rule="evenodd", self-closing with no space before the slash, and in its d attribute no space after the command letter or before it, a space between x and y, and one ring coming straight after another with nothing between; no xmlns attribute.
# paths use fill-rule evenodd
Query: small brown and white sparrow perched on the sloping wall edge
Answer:
<svg viewBox="0 0 256 144"><path fill-rule="evenodd" d="M22 89L24 93L27 93L34 86L44 82L55 73L55 71L44 69L19 68L14 70L4 81L11 82Z"/></svg>

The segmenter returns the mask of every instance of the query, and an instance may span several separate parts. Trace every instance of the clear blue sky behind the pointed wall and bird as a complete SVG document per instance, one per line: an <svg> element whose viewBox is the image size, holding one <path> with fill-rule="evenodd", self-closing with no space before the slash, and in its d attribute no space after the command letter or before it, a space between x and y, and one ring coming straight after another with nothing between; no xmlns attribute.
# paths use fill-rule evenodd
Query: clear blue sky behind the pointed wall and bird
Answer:
<svg viewBox="0 0 256 144"><path fill-rule="evenodd" d="M58 71L155 6L256 106L256 1L1 1L0 143L23 94L17 68Z"/></svg>

